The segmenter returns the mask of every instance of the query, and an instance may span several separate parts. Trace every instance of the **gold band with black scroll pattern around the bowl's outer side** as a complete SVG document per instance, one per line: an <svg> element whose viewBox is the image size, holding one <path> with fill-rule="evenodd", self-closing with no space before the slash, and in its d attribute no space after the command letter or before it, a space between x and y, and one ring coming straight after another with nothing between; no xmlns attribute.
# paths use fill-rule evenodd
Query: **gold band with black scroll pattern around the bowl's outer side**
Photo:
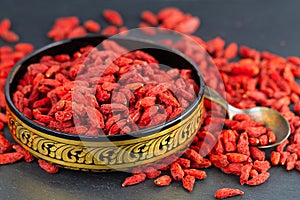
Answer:
<svg viewBox="0 0 300 200"><path fill-rule="evenodd" d="M153 163L186 148L201 125L202 111L203 98L188 117L159 133L104 142L70 140L40 132L25 124L9 107L7 116L14 140L35 157L68 169L111 171Z"/></svg>

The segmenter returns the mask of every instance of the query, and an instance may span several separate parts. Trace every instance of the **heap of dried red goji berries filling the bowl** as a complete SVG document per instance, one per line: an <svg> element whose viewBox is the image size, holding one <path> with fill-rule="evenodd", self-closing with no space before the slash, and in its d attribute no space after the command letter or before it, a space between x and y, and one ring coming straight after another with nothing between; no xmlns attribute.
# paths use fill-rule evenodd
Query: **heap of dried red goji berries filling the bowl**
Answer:
<svg viewBox="0 0 300 200"><path fill-rule="evenodd" d="M164 71L151 55L111 40L102 46L29 65L13 94L18 110L50 129L99 136L158 125L195 100L191 70Z"/></svg>

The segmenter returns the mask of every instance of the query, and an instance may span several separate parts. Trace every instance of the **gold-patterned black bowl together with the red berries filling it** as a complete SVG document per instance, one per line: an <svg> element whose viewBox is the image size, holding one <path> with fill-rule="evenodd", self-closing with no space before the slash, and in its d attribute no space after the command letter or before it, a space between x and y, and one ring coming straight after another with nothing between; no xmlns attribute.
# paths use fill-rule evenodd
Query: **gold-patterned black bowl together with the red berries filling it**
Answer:
<svg viewBox="0 0 300 200"><path fill-rule="evenodd" d="M192 142L202 122L205 86L197 65L182 53L150 41L107 39L87 36L56 42L21 60L11 71L5 91L8 127L14 140L35 157L67 169L126 170L159 162ZM101 42L104 50L96 48ZM134 51L123 56L124 49L116 44ZM87 52L92 55L83 62L80 58ZM121 58L117 56L103 76L91 78L99 62L80 68L98 56L103 64L119 53ZM172 69L163 71L159 65ZM129 66L134 66L134 73L125 76ZM141 68L144 71L138 74ZM166 77L171 84L157 83ZM92 82L96 82L94 96L89 94ZM168 87L175 89L168 91ZM125 95L129 90L133 98Z"/></svg>

